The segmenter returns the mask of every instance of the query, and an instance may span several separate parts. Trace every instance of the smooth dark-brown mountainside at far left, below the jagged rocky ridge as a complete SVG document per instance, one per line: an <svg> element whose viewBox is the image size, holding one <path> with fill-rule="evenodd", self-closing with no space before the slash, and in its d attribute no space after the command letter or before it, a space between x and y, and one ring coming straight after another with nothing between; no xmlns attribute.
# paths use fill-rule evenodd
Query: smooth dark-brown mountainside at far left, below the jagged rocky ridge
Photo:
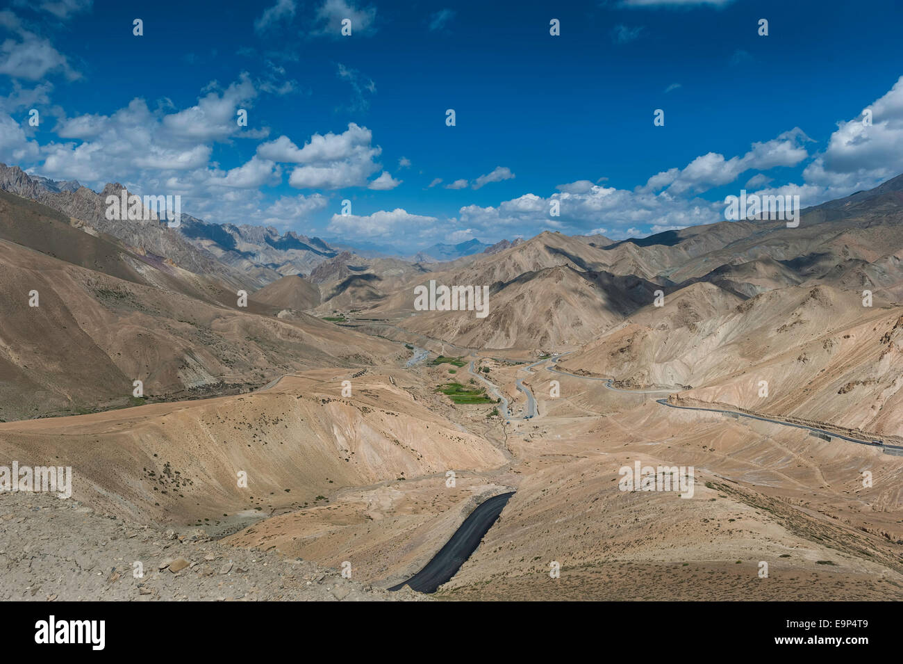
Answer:
<svg viewBox="0 0 903 664"><path fill-rule="evenodd" d="M135 380L154 400L197 397L398 356L311 316L239 307L236 292L67 221L0 194L0 419L124 406Z"/></svg>

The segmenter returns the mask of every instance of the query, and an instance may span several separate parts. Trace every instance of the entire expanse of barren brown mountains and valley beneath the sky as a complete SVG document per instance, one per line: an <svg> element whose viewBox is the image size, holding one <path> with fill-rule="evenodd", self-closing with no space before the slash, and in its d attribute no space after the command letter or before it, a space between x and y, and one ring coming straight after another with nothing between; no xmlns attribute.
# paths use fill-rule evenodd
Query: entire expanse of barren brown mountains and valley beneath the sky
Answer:
<svg viewBox="0 0 903 664"><path fill-rule="evenodd" d="M797 228L416 259L107 220L121 189L0 168L0 454L91 508L391 587L515 491L442 596L900 598L903 176ZM421 310L431 283L487 315ZM619 491L636 462L694 500Z"/></svg>

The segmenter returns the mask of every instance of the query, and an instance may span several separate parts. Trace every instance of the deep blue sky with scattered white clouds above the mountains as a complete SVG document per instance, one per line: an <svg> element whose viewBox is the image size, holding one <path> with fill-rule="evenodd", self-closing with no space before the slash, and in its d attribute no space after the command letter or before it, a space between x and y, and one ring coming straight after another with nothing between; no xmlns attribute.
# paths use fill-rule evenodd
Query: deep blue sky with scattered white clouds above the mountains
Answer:
<svg viewBox="0 0 903 664"><path fill-rule="evenodd" d="M642 236L743 188L806 206L903 173L891 1L221 5L8 0L0 160L402 253Z"/></svg>

